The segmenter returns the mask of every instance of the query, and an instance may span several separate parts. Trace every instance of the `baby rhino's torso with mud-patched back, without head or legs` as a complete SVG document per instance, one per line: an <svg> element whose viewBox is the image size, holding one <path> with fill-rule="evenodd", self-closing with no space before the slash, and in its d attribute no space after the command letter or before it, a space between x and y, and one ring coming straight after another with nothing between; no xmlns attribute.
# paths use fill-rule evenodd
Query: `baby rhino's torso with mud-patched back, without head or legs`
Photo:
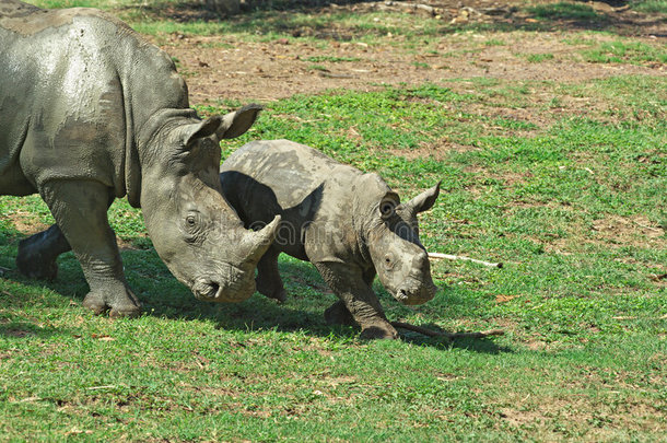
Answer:
<svg viewBox="0 0 667 443"><path fill-rule="evenodd" d="M282 217L281 250L311 261L354 255L359 170L289 140L262 140L238 149L221 171L225 196L246 224Z"/></svg>

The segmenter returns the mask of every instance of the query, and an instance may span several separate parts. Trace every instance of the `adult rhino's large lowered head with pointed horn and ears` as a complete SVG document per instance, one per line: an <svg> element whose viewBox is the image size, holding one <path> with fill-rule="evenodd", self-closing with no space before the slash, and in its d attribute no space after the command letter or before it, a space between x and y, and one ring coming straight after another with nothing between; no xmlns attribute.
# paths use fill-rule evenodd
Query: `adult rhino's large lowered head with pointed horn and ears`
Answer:
<svg viewBox="0 0 667 443"><path fill-rule="evenodd" d="M140 150L149 235L169 271L200 300L249 298L257 263L276 236L280 217L260 231L246 230L220 186L220 140L244 133L259 109L161 123Z"/></svg>

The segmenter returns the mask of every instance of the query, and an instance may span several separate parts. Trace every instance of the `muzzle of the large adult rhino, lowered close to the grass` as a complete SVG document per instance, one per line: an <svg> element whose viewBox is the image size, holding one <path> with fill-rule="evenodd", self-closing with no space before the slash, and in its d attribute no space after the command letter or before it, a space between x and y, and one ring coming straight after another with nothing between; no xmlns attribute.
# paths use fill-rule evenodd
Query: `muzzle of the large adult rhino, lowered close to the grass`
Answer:
<svg viewBox="0 0 667 443"><path fill-rule="evenodd" d="M207 302L242 302L255 292L253 273L227 265L215 278L199 277L191 287L195 298Z"/></svg>

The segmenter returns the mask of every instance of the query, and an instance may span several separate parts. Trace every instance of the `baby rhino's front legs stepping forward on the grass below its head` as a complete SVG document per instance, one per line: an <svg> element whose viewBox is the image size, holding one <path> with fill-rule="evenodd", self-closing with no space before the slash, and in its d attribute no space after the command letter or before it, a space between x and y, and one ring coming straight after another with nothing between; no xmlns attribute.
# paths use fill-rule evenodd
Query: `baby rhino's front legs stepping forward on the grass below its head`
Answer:
<svg viewBox="0 0 667 443"><path fill-rule="evenodd" d="M385 317L377 295L364 281L361 269L329 261L316 263L315 267L340 299L325 313L328 322L348 323L350 315L361 326L362 338L398 338L398 333Z"/></svg>

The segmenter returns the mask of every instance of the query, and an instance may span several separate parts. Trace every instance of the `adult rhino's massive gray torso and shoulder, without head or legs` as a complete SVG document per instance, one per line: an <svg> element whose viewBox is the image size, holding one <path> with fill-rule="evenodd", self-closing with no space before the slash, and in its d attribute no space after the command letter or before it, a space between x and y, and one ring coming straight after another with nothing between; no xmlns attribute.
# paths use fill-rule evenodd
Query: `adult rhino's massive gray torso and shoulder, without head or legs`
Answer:
<svg viewBox="0 0 667 443"><path fill-rule="evenodd" d="M173 62L122 22L0 0L1 194L83 178L121 197L138 128L187 106Z"/></svg>

